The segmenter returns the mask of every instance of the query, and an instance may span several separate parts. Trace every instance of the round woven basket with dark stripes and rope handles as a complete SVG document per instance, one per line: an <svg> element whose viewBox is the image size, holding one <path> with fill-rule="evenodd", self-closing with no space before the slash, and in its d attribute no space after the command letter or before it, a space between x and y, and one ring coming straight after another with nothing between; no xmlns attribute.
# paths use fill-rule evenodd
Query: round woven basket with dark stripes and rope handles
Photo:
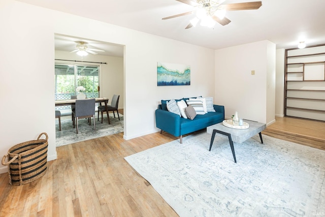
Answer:
<svg viewBox="0 0 325 217"><path fill-rule="evenodd" d="M46 139L40 139L42 135ZM42 177L47 169L46 133L41 133L37 140L23 142L11 147L2 159L3 165L8 165L9 183L26 184ZM6 158L8 162L6 163Z"/></svg>

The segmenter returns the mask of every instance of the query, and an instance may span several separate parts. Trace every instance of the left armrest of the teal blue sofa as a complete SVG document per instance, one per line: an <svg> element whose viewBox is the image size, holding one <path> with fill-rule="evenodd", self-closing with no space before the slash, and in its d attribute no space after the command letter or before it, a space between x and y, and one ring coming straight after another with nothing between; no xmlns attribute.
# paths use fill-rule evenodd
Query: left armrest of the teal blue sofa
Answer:
<svg viewBox="0 0 325 217"><path fill-rule="evenodd" d="M180 136L181 117L178 114L162 109L156 109L156 127L173 136Z"/></svg>

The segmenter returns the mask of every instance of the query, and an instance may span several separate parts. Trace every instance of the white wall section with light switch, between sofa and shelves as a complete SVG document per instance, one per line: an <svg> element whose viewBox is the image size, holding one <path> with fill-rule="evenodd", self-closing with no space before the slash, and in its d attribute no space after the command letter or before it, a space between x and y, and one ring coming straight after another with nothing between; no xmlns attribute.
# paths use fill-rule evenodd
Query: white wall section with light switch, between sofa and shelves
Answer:
<svg viewBox="0 0 325 217"><path fill-rule="evenodd" d="M255 75L251 75L251 71ZM270 80L273 79L273 80ZM270 123L267 109L275 91L275 45L254 42L215 51L215 103L224 105L225 116L238 111L240 118ZM269 99L268 99L269 97ZM273 115L273 119L270 116Z"/></svg>

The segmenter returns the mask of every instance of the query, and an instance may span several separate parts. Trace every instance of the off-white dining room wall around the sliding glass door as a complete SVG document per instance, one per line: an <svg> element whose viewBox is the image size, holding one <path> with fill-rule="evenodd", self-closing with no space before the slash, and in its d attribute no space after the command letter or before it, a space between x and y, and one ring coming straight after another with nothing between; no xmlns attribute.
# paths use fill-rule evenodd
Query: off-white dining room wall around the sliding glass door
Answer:
<svg viewBox="0 0 325 217"><path fill-rule="evenodd" d="M86 65L100 65L100 96L107 97L109 99L108 104L111 103L112 97L114 94L120 95L118 108L123 108L124 101L124 72L123 72L123 57L116 56L104 56L104 55L87 55L87 56L78 56L76 53L64 52L64 51L55 51L55 59L68 59L76 61L92 61L98 63L107 63L107 64L91 64L84 63ZM55 60L55 63L74 63L74 64L83 64L82 62L74 61L62 61Z"/></svg>

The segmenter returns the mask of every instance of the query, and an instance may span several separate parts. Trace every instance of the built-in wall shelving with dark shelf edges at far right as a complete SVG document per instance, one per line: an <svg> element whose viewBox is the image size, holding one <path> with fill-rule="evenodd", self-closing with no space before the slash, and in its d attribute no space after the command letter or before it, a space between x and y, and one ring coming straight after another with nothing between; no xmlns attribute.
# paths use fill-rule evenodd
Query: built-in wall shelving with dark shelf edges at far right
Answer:
<svg viewBox="0 0 325 217"><path fill-rule="evenodd" d="M285 50L284 116L325 121L325 44Z"/></svg>

